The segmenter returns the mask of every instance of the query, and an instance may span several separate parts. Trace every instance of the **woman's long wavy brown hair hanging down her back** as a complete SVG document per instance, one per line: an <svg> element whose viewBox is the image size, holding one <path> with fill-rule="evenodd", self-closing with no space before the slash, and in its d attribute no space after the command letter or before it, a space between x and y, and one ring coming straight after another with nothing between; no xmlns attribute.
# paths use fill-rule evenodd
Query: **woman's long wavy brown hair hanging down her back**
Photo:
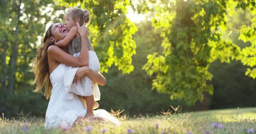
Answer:
<svg viewBox="0 0 256 134"><path fill-rule="evenodd" d="M35 74L35 80L32 82L32 84L37 84L36 89L33 90L33 92L42 93L42 87L44 86L44 96L46 96L46 99L49 99L52 93L52 83L50 82L47 56L47 49L49 48L49 46L54 45L53 41L50 40L51 36L53 36L51 32L52 25L49 26L48 30L45 33L43 44L40 47L38 47L37 56L32 61L31 70Z"/></svg>

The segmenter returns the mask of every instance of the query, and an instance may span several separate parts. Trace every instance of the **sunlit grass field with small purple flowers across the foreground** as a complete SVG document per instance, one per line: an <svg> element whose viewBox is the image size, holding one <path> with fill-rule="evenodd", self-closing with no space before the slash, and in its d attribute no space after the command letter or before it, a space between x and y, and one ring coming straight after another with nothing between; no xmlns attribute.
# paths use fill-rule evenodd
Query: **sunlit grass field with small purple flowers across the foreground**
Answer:
<svg viewBox="0 0 256 134"><path fill-rule="evenodd" d="M0 119L0 134L246 134L256 131L256 108L222 109L154 117L121 117L121 126L89 123L45 129L44 119ZM171 115L170 115L171 114Z"/></svg>

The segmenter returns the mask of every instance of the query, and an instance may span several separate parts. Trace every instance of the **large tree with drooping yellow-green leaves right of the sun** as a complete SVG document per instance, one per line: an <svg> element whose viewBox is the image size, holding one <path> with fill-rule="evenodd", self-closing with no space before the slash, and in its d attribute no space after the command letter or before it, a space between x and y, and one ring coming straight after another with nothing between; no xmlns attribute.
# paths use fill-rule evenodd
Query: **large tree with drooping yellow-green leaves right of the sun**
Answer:
<svg viewBox="0 0 256 134"><path fill-rule="evenodd" d="M241 59L240 47L222 39L227 28L226 10L233 6L226 0L161 0L156 5L152 23L162 28L163 53L148 55L143 69L156 74L152 88L170 98L193 105L210 95L213 87L209 65L216 59L230 62Z"/></svg>

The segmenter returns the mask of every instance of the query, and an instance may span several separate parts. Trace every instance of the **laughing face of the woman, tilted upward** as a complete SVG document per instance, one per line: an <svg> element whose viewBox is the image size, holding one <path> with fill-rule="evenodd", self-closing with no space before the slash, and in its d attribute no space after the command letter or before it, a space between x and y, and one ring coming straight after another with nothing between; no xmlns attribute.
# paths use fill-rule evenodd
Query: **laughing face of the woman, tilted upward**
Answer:
<svg viewBox="0 0 256 134"><path fill-rule="evenodd" d="M57 41L64 39L69 32L67 27L61 23L54 23L51 28L52 35Z"/></svg>

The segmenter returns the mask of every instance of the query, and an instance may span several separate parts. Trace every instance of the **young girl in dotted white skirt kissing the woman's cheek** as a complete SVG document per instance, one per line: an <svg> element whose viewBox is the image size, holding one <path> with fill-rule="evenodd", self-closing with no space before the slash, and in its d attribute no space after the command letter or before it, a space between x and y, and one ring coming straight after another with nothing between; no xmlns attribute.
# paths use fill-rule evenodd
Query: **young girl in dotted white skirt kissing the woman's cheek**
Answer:
<svg viewBox="0 0 256 134"><path fill-rule="evenodd" d="M81 38L87 39L87 54L84 58L88 61L88 67L92 70L99 72L99 59L96 53L93 51L90 40L88 36L82 37L79 35L76 27L76 23L81 26L82 23L86 25L90 22L90 12L80 8L69 9L64 15L64 20L66 20L65 25L67 27L61 29L61 32L69 31L67 36L55 45L58 47L68 45L69 53L73 56L78 57L81 51ZM100 100L100 92L98 84L94 83L89 77L81 77L79 81L76 80L76 70L77 67L67 67L64 76L64 86L66 88L66 98L74 99L79 95L81 98L86 100L87 114L85 117L92 118L94 116L93 109L99 107L96 103ZM76 81L76 84L73 84ZM76 94L76 95L75 95Z"/></svg>

